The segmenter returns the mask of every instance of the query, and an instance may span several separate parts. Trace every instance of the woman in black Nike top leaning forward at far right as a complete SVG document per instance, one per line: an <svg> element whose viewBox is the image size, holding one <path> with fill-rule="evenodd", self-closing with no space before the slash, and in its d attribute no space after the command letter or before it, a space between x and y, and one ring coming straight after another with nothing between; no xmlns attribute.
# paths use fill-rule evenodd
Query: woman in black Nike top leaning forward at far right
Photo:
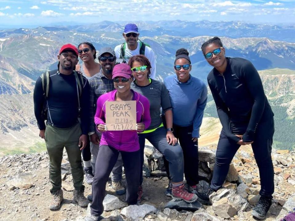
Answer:
<svg viewBox="0 0 295 221"><path fill-rule="evenodd" d="M214 67L208 75L208 84L222 124L208 195L222 187L239 147L251 144L261 179L261 197L252 215L264 219L274 192L271 159L274 122L260 76L248 60L225 57L225 48L218 37L206 41L202 51Z"/></svg>

